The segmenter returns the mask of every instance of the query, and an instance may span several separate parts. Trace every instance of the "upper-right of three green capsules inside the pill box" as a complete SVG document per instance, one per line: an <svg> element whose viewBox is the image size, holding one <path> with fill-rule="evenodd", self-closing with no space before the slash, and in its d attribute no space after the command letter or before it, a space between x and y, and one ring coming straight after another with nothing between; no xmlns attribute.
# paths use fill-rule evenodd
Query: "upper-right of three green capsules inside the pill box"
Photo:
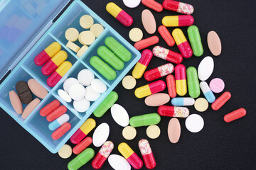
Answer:
<svg viewBox="0 0 256 170"><path fill-rule="evenodd" d="M129 62L132 58L132 53L129 52L123 45L121 45L117 40L112 37L108 37L105 40L105 45L114 52L117 57L119 57L124 62Z"/></svg>

